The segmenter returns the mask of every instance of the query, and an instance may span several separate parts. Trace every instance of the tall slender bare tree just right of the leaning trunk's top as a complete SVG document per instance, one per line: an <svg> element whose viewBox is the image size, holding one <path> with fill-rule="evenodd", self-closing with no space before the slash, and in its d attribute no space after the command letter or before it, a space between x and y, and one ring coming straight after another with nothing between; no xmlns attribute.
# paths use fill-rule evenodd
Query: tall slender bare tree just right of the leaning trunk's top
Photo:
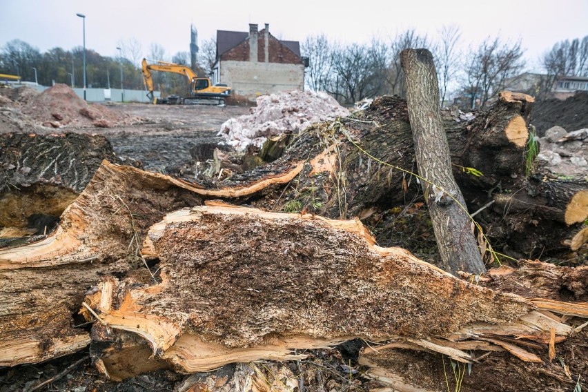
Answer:
<svg viewBox="0 0 588 392"><path fill-rule="evenodd" d="M435 50L435 63L438 70L441 106L445 105L447 86L459 72L461 53L458 43L462 33L458 26L443 26L439 31L440 43Z"/></svg>

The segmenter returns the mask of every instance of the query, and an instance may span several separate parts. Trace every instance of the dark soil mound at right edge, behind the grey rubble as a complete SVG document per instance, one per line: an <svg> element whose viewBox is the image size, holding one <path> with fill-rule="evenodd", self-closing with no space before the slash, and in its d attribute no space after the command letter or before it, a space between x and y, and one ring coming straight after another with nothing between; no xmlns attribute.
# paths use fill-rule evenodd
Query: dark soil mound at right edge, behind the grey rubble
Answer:
<svg viewBox="0 0 588 392"><path fill-rule="evenodd" d="M567 131L588 128L588 92L578 92L568 99L537 101L531 110L531 124L538 136L552 126L562 126Z"/></svg>

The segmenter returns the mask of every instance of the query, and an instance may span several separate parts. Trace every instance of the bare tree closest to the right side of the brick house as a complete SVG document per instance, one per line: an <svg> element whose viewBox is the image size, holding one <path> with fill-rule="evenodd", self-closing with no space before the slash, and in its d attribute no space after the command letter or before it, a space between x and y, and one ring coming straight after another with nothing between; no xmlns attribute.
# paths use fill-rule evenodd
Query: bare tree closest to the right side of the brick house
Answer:
<svg viewBox="0 0 588 392"><path fill-rule="evenodd" d="M302 53L310 60L304 81L311 90L324 91L329 86L332 68L332 48L326 35L306 37L302 43Z"/></svg>

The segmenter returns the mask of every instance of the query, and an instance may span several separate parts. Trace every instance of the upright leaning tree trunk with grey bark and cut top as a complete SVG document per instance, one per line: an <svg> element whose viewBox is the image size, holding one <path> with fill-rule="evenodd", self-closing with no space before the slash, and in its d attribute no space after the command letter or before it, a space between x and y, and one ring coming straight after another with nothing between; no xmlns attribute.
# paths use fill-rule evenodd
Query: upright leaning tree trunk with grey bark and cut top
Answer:
<svg viewBox="0 0 588 392"><path fill-rule="evenodd" d="M400 59L406 75L409 118L418 171L423 180L421 186L442 264L453 273L483 273L486 268L471 230L466 202L451 172L433 55L426 49L405 49Z"/></svg>

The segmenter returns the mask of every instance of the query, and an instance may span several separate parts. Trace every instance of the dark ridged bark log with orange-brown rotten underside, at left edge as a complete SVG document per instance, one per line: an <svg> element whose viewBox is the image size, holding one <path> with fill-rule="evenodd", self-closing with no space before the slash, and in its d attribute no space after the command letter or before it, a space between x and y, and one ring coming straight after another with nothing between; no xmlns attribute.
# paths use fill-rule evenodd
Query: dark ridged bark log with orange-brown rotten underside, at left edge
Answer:
<svg viewBox="0 0 588 392"><path fill-rule="evenodd" d="M121 163L103 136L0 135L0 238L52 231L103 159Z"/></svg>

